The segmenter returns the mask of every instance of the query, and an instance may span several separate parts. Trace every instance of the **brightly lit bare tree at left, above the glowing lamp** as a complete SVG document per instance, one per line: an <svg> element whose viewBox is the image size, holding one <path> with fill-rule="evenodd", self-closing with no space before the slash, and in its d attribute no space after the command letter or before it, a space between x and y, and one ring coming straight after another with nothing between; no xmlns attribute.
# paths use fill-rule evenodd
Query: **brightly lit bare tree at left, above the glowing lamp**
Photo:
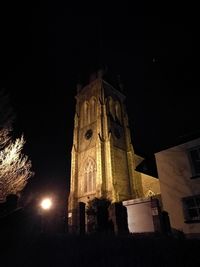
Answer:
<svg viewBox="0 0 200 267"><path fill-rule="evenodd" d="M5 98L2 99L4 101ZM0 115L1 111L3 110L0 110ZM21 192L28 179L33 176L31 161L22 154L25 144L23 135L13 141L11 133L10 116L7 120L3 116L3 121L0 123L0 201L5 201L10 194Z"/></svg>

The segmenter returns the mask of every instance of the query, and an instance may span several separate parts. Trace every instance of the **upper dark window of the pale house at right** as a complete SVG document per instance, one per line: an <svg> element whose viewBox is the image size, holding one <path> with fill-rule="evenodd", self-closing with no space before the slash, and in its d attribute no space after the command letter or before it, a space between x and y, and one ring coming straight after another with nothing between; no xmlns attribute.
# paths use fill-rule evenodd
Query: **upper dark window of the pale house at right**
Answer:
<svg viewBox="0 0 200 267"><path fill-rule="evenodd" d="M200 176L200 147L192 148L188 151L192 168L192 178Z"/></svg>

